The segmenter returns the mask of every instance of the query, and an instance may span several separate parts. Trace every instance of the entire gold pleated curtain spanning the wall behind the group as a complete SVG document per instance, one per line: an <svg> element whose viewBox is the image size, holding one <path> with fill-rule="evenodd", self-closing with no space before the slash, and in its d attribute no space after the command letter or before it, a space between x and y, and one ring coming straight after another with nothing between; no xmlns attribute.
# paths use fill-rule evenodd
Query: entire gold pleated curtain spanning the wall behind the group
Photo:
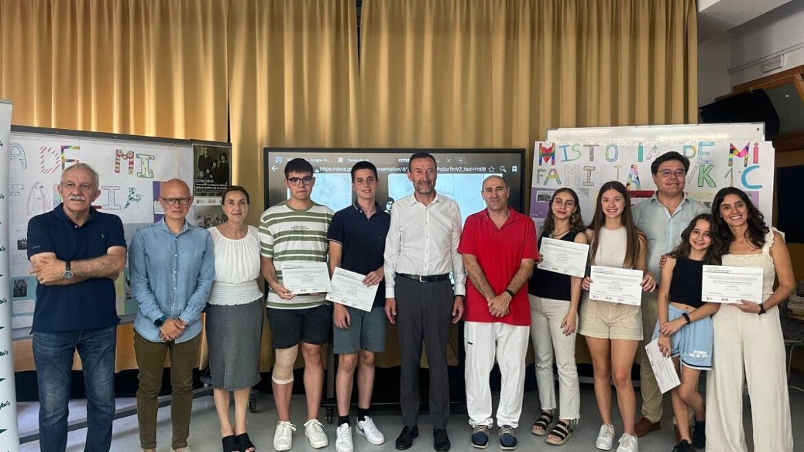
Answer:
<svg viewBox="0 0 804 452"><path fill-rule="evenodd" d="M0 97L14 124L231 140L256 224L264 146L530 149L548 128L695 122L695 21L694 0L363 0L358 63L353 0L3 0Z"/></svg>

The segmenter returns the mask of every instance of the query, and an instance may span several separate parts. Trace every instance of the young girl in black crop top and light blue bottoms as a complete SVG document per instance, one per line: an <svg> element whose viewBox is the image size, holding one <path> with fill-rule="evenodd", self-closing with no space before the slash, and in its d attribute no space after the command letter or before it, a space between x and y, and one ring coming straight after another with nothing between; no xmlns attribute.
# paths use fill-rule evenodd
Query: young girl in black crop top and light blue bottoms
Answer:
<svg viewBox="0 0 804 452"><path fill-rule="evenodd" d="M719 303L701 300L704 265L720 265L722 246L711 214L699 214L681 233L681 243L662 267L658 292L658 322L654 339L664 356L673 358L681 385L671 389L673 412L679 420L681 442L674 450L692 452L706 446L704 399L697 391L701 370L712 367L712 314ZM695 413L690 434L688 409Z"/></svg>

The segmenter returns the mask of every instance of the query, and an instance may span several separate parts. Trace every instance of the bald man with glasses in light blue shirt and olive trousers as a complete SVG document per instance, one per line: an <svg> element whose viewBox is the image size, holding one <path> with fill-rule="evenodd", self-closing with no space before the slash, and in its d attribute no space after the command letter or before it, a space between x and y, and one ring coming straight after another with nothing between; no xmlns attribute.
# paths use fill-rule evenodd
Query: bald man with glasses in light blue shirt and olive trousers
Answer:
<svg viewBox="0 0 804 452"><path fill-rule="evenodd" d="M215 279L215 256L207 230L187 223L190 187L162 184L165 218L134 233L129 249L131 293L139 304L134 354L139 367L137 418L143 450L156 450L156 421L165 355L170 352L173 450L183 452L190 435L193 368L201 342L199 317Z"/></svg>

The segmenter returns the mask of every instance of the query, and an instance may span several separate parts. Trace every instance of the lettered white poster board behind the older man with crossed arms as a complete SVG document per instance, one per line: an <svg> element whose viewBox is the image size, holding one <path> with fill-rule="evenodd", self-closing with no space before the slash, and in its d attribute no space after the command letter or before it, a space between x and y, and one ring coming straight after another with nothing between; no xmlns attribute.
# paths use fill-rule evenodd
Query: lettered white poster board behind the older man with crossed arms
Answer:
<svg viewBox="0 0 804 452"><path fill-rule="evenodd" d="M178 177L193 186L193 146L199 143L230 148L192 140L12 127L7 192L12 328L31 326L36 301L37 282L28 275L28 220L59 205L56 187L64 169L80 162L98 172L100 197L92 206L119 216L130 243L134 230L162 218L158 197L163 181ZM195 207L187 215L191 222L195 222L194 213ZM115 282L118 316L137 311L127 281L128 266Z"/></svg>

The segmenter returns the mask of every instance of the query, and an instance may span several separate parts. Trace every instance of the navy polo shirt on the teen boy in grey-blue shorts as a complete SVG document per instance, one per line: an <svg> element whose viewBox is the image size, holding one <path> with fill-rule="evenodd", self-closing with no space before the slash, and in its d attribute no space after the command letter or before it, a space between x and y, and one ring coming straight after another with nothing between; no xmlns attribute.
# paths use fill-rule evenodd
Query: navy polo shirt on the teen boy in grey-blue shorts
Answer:
<svg viewBox="0 0 804 452"><path fill-rule="evenodd" d="M383 266L385 236L391 228L391 215L375 203L375 214L366 218L359 204L338 210L330 222L326 238L343 245L340 267L367 275ZM374 307L385 306L385 279L379 282Z"/></svg>

